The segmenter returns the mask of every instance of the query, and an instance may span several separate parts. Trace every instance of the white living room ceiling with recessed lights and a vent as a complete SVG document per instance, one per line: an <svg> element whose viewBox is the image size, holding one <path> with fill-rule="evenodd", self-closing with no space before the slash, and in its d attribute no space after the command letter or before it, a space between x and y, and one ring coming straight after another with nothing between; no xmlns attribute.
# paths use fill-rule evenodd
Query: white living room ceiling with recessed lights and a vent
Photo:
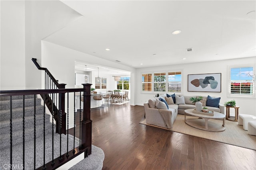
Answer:
<svg viewBox="0 0 256 170"><path fill-rule="evenodd" d="M45 41L134 68L256 56L255 0L63 3L84 17Z"/></svg>

